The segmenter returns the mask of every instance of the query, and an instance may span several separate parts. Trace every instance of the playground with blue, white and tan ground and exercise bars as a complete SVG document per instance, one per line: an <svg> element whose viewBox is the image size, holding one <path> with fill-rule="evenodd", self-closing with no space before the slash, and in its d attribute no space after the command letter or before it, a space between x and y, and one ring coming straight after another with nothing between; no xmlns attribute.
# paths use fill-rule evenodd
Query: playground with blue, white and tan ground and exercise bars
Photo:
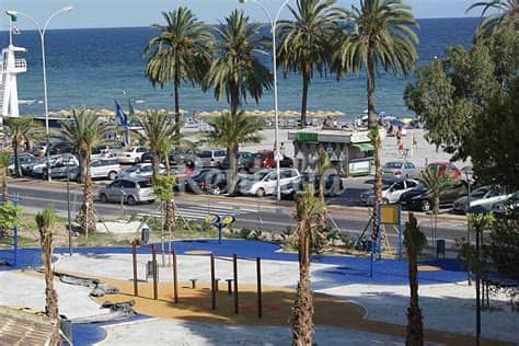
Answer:
<svg viewBox="0 0 519 346"><path fill-rule="evenodd" d="M280 252L277 244L268 242L226 239L221 243L217 239L174 241L172 249L174 254L164 252L164 256L160 244L80 247L72 256L67 249L57 249L57 273L95 278L118 289L115 295L92 300L89 288L57 281L62 314L72 321L95 320L104 313L100 305L106 301L134 301L137 313L73 324L74 345L127 345L125 337L130 334L132 341L141 337L150 343L168 343L175 337L194 345L227 345L244 339L247 345L289 343L297 254ZM20 249L18 258L21 267L39 265L37 249ZM42 274L11 269L0 272L4 287L0 304L42 310ZM402 344L408 304L406 270L404 261L382 258L374 262L371 276L369 257L314 256L316 342L343 345L339 341L347 338L359 345ZM474 302L466 273L452 260L439 260L420 263L418 278L426 339L445 345L471 344ZM506 311L504 297L493 298L493 305L503 309L483 313L483 344L517 342L517 315Z"/></svg>

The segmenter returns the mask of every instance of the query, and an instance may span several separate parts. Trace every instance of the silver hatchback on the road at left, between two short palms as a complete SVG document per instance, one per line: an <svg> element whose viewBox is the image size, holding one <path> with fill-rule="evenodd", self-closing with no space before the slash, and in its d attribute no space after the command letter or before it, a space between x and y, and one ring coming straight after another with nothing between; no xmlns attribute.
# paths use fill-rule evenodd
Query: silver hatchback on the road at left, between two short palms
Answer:
<svg viewBox="0 0 519 346"><path fill-rule="evenodd" d="M153 203L157 196L153 193L153 185L148 178L120 178L101 187L99 199L102 203L123 201L136 205L145 201Z"/></svg>

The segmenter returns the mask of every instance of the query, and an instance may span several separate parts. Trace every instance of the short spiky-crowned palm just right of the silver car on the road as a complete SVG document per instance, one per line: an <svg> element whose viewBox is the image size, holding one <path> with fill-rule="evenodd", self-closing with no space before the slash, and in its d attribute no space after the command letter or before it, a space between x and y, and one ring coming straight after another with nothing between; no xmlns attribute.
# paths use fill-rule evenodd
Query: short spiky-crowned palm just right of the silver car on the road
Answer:
<svg viewBox="0 0 519 346"><path fill-rule="evenodd" d="M148 145L152 154L154 180L160 172L159 166L162 157L160 146L163 146L164 141L180 143L182 122L173 120L165 112L147 111L142 116L137 117L137 125L141 127L140 130L136 131L137 136ZM165 157L168 154L169 152Z"/></svg>

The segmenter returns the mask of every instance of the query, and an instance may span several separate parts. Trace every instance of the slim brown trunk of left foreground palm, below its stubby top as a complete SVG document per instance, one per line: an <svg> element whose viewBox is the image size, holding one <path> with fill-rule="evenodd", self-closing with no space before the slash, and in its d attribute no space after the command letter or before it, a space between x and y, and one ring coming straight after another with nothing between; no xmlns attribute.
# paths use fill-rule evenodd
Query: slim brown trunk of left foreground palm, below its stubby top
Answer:
<svg viewBox="0 0 519 346"><path fill-rule="evenodd" d="M51 319L58 318L58 297L54 289L53 273L53 238L49 229L42 230L42 251L45 275L45 314Z"/></svg>

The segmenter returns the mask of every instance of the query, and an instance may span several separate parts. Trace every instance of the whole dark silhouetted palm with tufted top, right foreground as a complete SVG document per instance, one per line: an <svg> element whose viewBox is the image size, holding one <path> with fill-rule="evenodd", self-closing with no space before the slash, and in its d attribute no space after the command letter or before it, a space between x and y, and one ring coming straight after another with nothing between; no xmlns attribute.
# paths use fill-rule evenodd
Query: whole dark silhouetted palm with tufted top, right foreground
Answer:
<svg viewBox="0 0 519 346"><path fill-rule="evenodd" d="M406 345L424 345L424 326L418 305L418 255L427 244L427 239L419 230L416 218L410 212L410 221L404 227L404 245L408 257L410 308L407 309Z"/></svg>

